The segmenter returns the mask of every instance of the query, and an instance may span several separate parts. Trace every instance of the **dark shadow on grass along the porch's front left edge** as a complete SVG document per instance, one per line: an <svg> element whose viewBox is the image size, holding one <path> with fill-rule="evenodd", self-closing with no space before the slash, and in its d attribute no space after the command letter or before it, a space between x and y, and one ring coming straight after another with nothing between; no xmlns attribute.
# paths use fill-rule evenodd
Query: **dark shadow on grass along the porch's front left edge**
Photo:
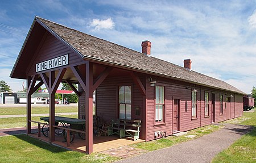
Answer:
<svg viewBox="0 0 256 163"><path fill-rule="evenodd" d="M17 137L20 140L26 141L27 143L31 144L31 145L35 145L36 147L45 149L49 152L52 153L59 153L59 152L67 152L67 149L64 148L60 148L60 147L56 147L54 145L45 143L43 141L40 141L38 139L35 139L33 137L30 137L28 135L22 134L22 135L14 135L15 137Z"/></svg>

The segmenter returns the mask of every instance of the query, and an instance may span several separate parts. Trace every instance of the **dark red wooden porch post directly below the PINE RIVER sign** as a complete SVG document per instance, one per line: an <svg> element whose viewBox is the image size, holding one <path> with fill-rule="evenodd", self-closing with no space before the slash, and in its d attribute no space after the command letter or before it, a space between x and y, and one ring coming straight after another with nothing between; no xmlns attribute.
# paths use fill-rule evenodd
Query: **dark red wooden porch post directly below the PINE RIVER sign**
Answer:
<svg viewBox="0 0 256 163"><path fill-rule="evenodd" d="M55 71L49 73L49 141L55 141L55 92L52 92L52 85L55 81Z"/></svg>

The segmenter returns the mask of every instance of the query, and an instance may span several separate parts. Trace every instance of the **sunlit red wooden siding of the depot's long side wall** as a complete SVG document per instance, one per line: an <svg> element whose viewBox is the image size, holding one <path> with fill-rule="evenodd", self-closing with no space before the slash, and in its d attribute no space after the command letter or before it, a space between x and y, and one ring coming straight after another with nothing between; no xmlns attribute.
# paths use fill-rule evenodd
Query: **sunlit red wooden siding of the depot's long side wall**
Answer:
<svg viewBox="0 0 256 163"><path fill-rule="evenodd" d="M155 80L155 79L154 79ZM242 116L242 95L236 94L236 103L234 102L235 97L231 97L230 111L225 108L226 93L216 89L209 89L207 87L196 86L197 90L197 118L192 118L192 100L191 100L191 87L189 83L177 82L172 80L158 80L159 85L166 86L166 107L165 107L165 123L162 125L154 124L154 89L155 87L150 86L150 82L147 82L147 136L146 141L158 139L161 136L155 136L154 132L164 131L168 135L172 135L172 102L173 99L180 99L180 131L188 131L189 129L206 126L212 123L213 114L213 103L212 95L215 97L215 110L214 120L215 122L221 122L226 119L234 118L235 116ZM157 84L156 84L157 85ZM191 85L191 84L190 84ZM209 116L205 116L205 92L209 93ZM220 114L220 95L224 95L223 101L223 114ZM236 112L236 115L235 115ZM227 116L228 114L228 116ZM233 116L232 116L233 114ZM228 117L228 118L227 118Z"/></svg>

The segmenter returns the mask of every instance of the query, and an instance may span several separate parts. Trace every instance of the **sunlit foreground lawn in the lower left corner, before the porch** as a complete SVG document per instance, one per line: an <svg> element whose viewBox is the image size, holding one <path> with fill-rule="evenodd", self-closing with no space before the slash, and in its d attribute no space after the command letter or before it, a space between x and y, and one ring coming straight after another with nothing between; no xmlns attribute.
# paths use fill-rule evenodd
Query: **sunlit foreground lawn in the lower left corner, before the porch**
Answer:
<svg viewBox="0 0 256 163"><path fill-rule="evenodd" d="M114 162L118 157L101 153L67 151L27 135L0 137L0 162Z"/></svg>

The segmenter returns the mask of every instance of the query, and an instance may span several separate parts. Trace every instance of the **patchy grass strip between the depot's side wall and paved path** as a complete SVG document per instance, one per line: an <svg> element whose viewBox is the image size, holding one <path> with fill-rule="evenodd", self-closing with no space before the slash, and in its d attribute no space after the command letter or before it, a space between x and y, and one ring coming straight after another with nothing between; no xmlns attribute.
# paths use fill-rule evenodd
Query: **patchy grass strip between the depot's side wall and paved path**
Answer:
<svg viewBox="0 0 256 163"><path fill-rule="evenodd" d="M179 136L179 137L168 136L166 139L152 140L152 141L147 141L147 142L143 142L143 143L132 144L130 146L135 147L135 148L144 149L147 151L155 151L157 149L171 147L172 145L175 145L177 143L182 143L185 141L197 139L198 137L212 133L212 132L217 131L218 129L221 129L223 127L224 126L208 125L205 127L200 127L200 128L196 128L196 129L192 129L191 131L188 131L188 135L195 135L195 137L193 137L193 138L185 137L187 135L183 135L183 136Z"/></svg>

